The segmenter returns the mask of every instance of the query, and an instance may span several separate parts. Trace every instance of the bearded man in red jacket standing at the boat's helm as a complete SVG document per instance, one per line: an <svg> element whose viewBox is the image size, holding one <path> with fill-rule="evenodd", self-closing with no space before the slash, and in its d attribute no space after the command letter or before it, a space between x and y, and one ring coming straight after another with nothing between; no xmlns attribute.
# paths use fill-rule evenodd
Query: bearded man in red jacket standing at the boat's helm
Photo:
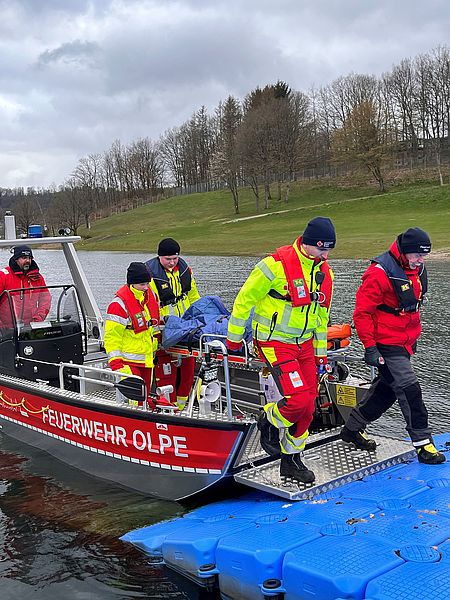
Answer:
<svg viewBox="0 0 450 600"><path fill-rule="evenodd" d="M0 295L5 290L20 290L11 294L16 321L29 325L31 321L44 321L50 310L52 297L45 287L44 278L33 260L29 246L15 246L9 265L0 270ZM0 324L12 327L11 309L6 294L0 300Z"/></svg>

